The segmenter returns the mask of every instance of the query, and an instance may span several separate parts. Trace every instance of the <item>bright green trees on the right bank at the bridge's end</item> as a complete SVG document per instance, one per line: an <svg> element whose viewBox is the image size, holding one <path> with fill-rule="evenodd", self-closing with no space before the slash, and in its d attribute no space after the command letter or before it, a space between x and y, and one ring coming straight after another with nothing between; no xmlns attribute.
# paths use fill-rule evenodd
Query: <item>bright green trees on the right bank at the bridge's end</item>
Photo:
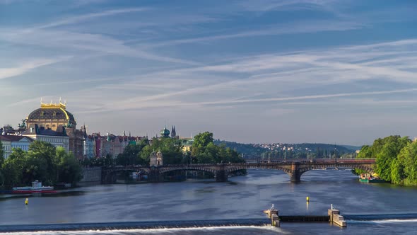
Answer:
<svg viewBox="0 0 417 235"><path fill-rule="evenodd" d="M375 173L383 180L400 185L417 185L417 142L392 135L364 145L358 158L376 158Z"/></svg>

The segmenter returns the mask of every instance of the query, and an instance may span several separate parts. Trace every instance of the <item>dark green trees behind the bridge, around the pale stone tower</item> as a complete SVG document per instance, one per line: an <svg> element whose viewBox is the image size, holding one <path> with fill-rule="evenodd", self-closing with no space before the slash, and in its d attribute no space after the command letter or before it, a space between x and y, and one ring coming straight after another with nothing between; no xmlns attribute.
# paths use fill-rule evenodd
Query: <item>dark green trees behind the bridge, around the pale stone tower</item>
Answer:
<svg viewBox="0 0 417 235"><path fill-rule="evenodd" d="M190 151L184 151L182 140L175 138L142 139L138 144L129 144L118 156L84 159L84 166L141 165L149 166L149 156L153 151L163 154L163 164L216 164L239 163L244 160L237 151L222 144L213 143L213 133L204 132L194 137Z"/></svg>

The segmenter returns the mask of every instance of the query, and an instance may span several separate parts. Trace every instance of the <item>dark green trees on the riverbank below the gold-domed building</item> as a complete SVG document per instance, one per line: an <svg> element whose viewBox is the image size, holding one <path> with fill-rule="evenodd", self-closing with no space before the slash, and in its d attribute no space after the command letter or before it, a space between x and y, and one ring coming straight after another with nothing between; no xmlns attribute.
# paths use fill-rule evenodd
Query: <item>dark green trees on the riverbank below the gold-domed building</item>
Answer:
<svg viewBox="0 0 417 235"><path fill-rule="evenodd" d="M0 142L0 185L11 188L31 185L40 180L43 185L55 183L76 183L82 178L82 169L74 155L62 147L54 147L47 142L34 141L29 151L13 149L4 159Z"/></svg>

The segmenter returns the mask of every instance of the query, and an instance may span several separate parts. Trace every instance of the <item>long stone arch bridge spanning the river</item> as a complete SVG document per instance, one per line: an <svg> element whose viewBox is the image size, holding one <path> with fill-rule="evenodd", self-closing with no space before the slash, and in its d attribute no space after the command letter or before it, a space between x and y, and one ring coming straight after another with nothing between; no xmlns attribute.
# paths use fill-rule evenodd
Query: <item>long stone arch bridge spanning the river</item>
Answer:
<svg viewBox="0 0 417 235"><path fill-rule="evenodd" d="M148 180L160 182L163 174L170 171L206 171L213 173L217 182L225 182L233 171L249 168L276 169L290 176L291 182L300 182L303 173L326 168L358 168L374 173L375 159L315 159L290 161L255 161L242 164L187 164L163 166L119 166L102 168L102 183L112 183L114 174L122 171L141 171L148 175Z"/></svg>

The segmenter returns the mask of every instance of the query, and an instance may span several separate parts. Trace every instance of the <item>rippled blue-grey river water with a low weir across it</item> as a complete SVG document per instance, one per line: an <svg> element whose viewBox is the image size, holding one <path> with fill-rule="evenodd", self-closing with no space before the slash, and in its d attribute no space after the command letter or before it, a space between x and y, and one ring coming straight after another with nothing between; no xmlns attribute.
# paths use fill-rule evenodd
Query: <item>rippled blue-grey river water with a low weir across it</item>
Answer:
<svg viewBox="0 0 417 235"><path fill-rule="evenodd" d="M39 229L33 224L45 224L43 229L61 231L36 234L417 234L416 187L359 183L351 171L343 170L308 171L301 180L290 183L282 171L250 169L247 176L230 177L225 183L189 179L98 185L29 197L29 205L24 204L27 196L0 195L0 233L18 224L27 224L30 230ZM344 229L328 223L235 226L266 219L262 210L271 204L282 215L326 215L333 204L353 219ZM180 228L190 221L197 221L195 227ZM153 228L133 229L138 227L135 223L145 222ZM87 231L70 231L84 223L89 223Z"/></svg>

